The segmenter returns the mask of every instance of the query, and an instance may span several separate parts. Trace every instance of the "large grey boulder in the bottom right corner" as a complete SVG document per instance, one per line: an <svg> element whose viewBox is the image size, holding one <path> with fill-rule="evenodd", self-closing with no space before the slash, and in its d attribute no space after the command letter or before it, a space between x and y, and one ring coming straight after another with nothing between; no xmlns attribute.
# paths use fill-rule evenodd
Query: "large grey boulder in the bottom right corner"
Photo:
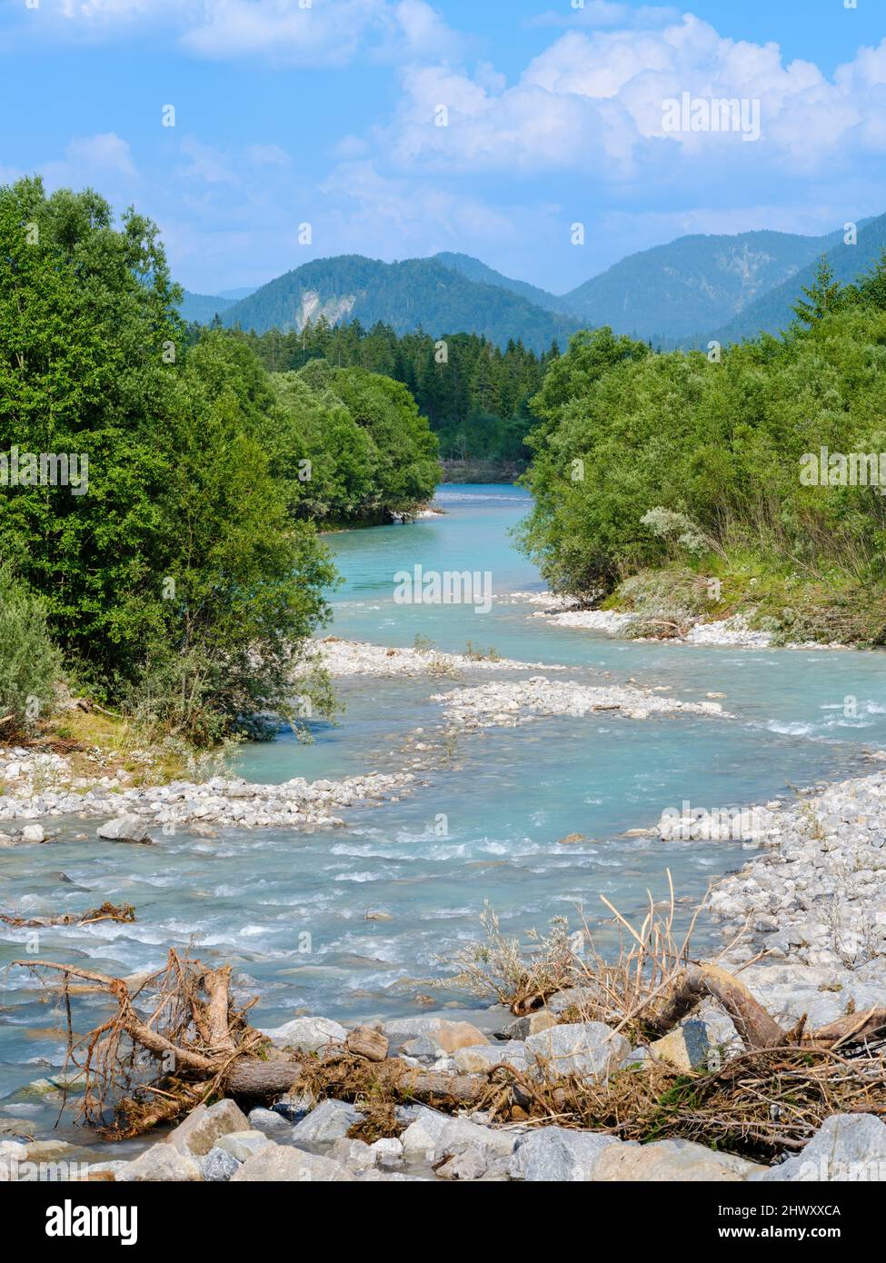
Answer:
<svg viewBox="0 0 886 1263"><path fill-rule="evenodd" d="M800 1153L752 1178L798 1183L886 1180L886 1124L875 1114L832 1114Z"/></svg>

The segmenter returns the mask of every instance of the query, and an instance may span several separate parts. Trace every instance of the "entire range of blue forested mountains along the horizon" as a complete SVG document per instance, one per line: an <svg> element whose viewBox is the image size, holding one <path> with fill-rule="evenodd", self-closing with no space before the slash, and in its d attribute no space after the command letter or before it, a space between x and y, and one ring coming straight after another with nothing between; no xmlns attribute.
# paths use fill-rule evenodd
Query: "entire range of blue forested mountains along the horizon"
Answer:
<svg viewBox="0 0 886 1263"><path fill-rule="evenodd" d="M370 327L382 321L398 333L480 333L498 346L522 338L536 351L554 338L565 346L576 328L609 325L667 350L777 332L790 323L791 304L813 279L822 254L848 282L872 266L883 246L886 215L861 221L856 246L843 245L843 230L825 236L684 236L628 255L560 296L468 254L402 263L339 255L315 259L255 290L187 293L181 309L186 320L201 323L217 312L222 323L259 333L300 330L325 316L330 325L359 320Z"/></svg>

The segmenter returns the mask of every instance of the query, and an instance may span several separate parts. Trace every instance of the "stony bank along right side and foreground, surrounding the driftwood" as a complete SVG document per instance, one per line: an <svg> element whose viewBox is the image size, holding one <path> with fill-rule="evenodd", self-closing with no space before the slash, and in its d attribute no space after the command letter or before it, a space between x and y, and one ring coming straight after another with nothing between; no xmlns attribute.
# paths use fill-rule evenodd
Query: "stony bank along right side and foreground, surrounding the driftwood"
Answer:
<svg viewBox="0 0 886 1263"><path fill-rule="evenodd" d="M484 685L479 692L494 687ZM818 1029L848 1014L862 1022L870 1010L882 1009L886 770L811 787L795 801L747 808L739 820L747 840L765 853L712 893L710 908L732 945L719 964L784 1031L804 1019ZM709 829L710 820L698 815L667 816L650 832L672 841ZM746 935L736 943L743 930ZM737 1027L712 999L665 1037L633 1047L614 1022L583 1015L585 991L578 986L551 995L542 1009L517 1018L494 1004L369 1021L358 1032L324 1017L298 1015L263 1034L279 1057L322 1058L359 1034L367 1056L398 1056L416 1072L470 1080L501 1065L525 1081L575 1074L604 1086L616 1072L643 1072L655 1062L691 1074L742 1051ZM63 1142L47 1148L47 1142L19 1138L15 1120L6 1118L0 1178L34 1178L27 1172L48 1163L52 1178L116 1182L886 1180L886 1125L870 1113L825 1116L804 1147L772 1166L685 1138L641 1144L556 1120L497 1124L483 1109L452 1114L399 1105L391 1134L382 1139L363 1138L365 1123L359 1104L300 1091L248 1115L225 1100L198 1106L134 1158L90 1162L82 1148Z"/></svg>

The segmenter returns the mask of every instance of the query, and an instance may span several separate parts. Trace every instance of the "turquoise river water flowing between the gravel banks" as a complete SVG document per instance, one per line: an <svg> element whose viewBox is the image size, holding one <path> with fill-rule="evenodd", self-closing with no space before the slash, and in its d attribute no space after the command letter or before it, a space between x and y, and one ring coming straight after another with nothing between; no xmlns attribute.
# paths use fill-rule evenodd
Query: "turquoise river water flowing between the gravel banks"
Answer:
<svg viewBox="0 0 886 1263"><path fill-rule="evenodd" d="M509 486L446 486L437 496L444 515L330 537L344 576L330 632L389 645L421 635L447 652L470 642L506 658L567 664L559 678L633 678L686 701L725 693L734 720L598 714L466 734L412 793L348 810L346 827L316 834L179 831L138 847L97 842L95 821L64 821L52 845L0 853L0 907L39 916L110 899L133 903L138 921L44 930L39 942L29 942L32 931L6 928L0 966L37 949L129 974L161 964L169 946L192 946L207 964L234 964L241 990L260 994L260 1026L294 1010L346 1022L421 1012L416 997L446 971L441 960L479 936L484 899L503 930L525 936L559 914L578 926L579 909L598 918L600 894L636 913L647 889L665 893L670 869L689 909L749 851L738 842L626 839L626 830L685 801L713 811L863 772L865 750L886 746L881 653L632 643L554 628L533 618L532 605L502 600L543 587L511 538L528 503ZM415 565L488 571L497 600L487 614L470 605L398 605L393 576ZM345 682L337 725L315 724L311 745L282 734L249 746L236 770L255 782L393 770L408 734L439 730L431 695L458 685ZM849 697L854 719L846 717ZM560 845L575 832L586 840ZM384 919L369 919L369 911ZM612 928L600 933L605 942ZM62 1066L61 1014L24 971L0 976L0 1110L30 1111L42 1127L54 1113L21 1090ZM435 994L437 1003L459 999ZM97 1017L97 1000L81 1003Z"/></svg>

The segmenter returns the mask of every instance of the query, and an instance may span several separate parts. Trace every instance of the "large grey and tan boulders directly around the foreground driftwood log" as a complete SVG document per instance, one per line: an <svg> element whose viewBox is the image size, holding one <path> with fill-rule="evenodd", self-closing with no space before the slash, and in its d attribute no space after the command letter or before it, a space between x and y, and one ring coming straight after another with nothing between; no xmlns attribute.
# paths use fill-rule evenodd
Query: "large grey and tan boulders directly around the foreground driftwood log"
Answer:
<svg viewBox="0 0 886 1263"><path fill-rule="evenodd" d="M785 983L785 991L790 983ZM827 999L827 997L825 997ZM494 1065L513 1067L525 1082L543 1084L552 1074L576 1075L605 1085L618 1071L637 1074L653 1050L636 1050L600 1022L564 1019L574 993L550 998L547 1008L525 1018L501 1005L455 1014L364 1024L349 1032L325 1018L300 1017L267 1031L274 1048L321 1058L359 1036L373 1060L397 1052L404 1066L464 1079L484 1076ZM795 1010L795 1005L790 1005ZM690 1027L698 1031L689 1037ZM694 1017L669 1037L674 1048L698 1057L705 1037L718 1053L734 1028L719 1014ZM699 1037L699 1031L701 1036ZM679 1036L675 1043L675 1036ZM665 1041L661 1041L664 1045ZM705 1045L705 1056L710 1048ZM696 1061L698 1063L698 1061ZM689 1067L686 1067L689 1068ZM134 1158L90 1162L82 1148L63 1142L16 1138L15 1122L0 1142L0 1180L44 1178L129 1182L744 1182L886 1178L886 1125L865 1113L833 1114L805 1147L775 1166L718 1152L689 1139L640 1144L605 1130L566 1128L556 1122L495 1124L484 1110L451 1114L421 1104L394 1110L392 1134L364 1139L367 1109L310 1091L283 1095L273 1108L245 1114L230 1099L198 1105L159 1143Z"/></svg>

